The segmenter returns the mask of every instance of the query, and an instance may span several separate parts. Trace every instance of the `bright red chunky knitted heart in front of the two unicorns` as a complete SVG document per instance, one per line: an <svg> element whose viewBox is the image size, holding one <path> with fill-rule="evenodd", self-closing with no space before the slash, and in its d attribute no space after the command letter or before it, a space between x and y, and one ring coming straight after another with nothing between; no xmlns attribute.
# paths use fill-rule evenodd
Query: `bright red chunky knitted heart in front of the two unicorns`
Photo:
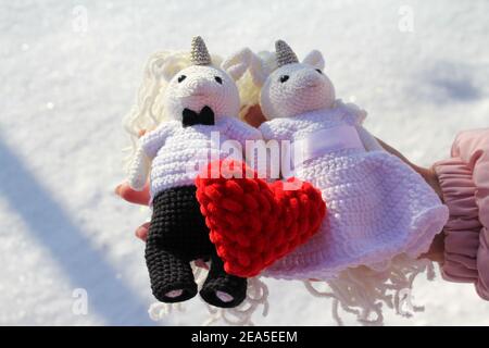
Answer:
<svg viewBox="0 0 489 348"><path fill-rule="evenodd" d="M294 178L267 184L238 161L211 163L196 185L224 269L241 277L258 275L304 244L326 215L321 192L311 184Z"/></svg>

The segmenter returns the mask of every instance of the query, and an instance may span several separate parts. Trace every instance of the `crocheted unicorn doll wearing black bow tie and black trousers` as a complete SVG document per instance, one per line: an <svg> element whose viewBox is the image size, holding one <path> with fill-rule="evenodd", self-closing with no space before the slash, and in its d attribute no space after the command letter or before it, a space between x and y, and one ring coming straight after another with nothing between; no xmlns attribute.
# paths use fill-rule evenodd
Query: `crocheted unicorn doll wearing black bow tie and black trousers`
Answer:
<svg viewBox="0 0 489 348"><path fill-rule="evenodd" d="M140 190L150 174L153 212L146 260L153 295L162 302L196 296L190 261L197 259L211 260L200 290L208 303L231 308L246 297L247 279L224 271L210 241L196 200L195 179L211 158L229 156L217 142L233 139L244 148L247 139L261 139L256 128L238 120L240 101L235 80L247 71L250 54L248 49L242 50L216 67L203 40L196 37L191 49L193 65L179 72L161 67L168 80L164 108L170 120L140 138L128 182ZM217 142L213 132L218 133Z"/></svg>

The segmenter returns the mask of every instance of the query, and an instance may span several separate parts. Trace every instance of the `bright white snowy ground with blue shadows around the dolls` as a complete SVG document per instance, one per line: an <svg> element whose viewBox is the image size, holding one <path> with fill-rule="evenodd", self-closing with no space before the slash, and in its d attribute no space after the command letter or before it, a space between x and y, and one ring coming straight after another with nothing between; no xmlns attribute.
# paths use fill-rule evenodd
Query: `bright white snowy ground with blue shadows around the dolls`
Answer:
<svg viewBox="0 0 489 348"><path fill-rule="evenodd" d="M112 190L123 179L121 120L155 50L186 49L193 35L221 54L277 38L300 57L317 48L338 96L419 164L446 157L457 130L489 125L488 1L141 3L0 3L0 324L154 324L133 236L147 211ZM255 323L334 324L330 304L301 284L266 283L271 311ZM73 311L77 288L86 315ZM471 285L419 281L414 295L426 311L386 324L489 324ZM163 324L204 318L195 299Z"/></svg>

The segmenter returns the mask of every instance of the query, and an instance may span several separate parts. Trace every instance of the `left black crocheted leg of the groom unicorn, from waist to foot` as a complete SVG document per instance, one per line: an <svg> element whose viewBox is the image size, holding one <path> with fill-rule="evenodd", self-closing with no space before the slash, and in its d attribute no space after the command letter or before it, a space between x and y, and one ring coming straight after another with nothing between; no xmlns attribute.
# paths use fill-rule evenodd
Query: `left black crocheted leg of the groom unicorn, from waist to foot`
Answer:
<svg viewBox="0 0 489 348"><path fill-rule="evenodd" d="M197 294L190 261L213 249L196 199L196 187L164 190L153 199L146 261L154 297L179 302Z"/></svg>

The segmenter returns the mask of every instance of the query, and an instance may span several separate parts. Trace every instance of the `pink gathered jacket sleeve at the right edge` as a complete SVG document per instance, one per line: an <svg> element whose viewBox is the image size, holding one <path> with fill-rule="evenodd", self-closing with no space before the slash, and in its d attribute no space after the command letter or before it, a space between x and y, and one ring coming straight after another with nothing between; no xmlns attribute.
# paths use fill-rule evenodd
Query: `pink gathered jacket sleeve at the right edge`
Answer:
<svg viewBox="0 0 489 348"><path fill-rule="evenodd" d="M489 300L489 128L461 133L451 157L435 164L450 209L442 274Z"/></svg>

